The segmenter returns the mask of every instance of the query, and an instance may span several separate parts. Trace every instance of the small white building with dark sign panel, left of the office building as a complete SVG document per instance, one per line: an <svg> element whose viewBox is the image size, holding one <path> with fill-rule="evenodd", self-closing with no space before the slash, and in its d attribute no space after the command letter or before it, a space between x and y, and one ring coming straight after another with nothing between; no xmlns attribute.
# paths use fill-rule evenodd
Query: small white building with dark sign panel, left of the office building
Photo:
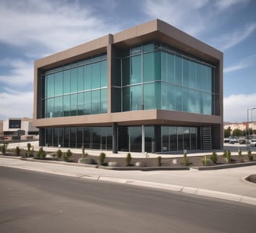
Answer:
<svg viewBox="0 0 256 233"><path fill-rule="evenodd" d="M33 136L38 135L38 129L33 126L31 118L8 118L3 121L4 136Z"/></svg>

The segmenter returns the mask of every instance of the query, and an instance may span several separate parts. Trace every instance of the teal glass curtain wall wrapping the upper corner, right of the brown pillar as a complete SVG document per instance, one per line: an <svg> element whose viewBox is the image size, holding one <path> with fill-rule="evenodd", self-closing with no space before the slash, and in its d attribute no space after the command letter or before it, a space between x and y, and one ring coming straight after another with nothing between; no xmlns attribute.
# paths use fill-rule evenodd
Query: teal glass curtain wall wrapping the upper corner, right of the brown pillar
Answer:
<svg viewBox="0 0 256 233"><path fill-rule="evenodd" d="M214 115L214 67L151 43L122 58L122 111L165 109Z"/></svg>

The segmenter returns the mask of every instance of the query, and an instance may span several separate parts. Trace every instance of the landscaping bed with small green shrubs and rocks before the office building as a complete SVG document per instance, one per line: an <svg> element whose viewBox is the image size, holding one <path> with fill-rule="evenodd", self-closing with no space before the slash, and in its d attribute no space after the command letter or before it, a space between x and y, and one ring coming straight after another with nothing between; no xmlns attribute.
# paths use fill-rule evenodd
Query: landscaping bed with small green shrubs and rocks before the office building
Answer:
<svg viewBox="0 0 256 233"><path fill-rule="evenodd" d="M43 154L38 154L38 151L30 151L29 156L27 150L20 150L20 154L16 154L16 150L6 150L6 156L21 156L21 157L34 157L35 159L43 159L47 161L67 161L69 163L83 163L83 164L94 164L94 165L101 165L105 167L118 167L118 168L125 168L125 167L135 167L135 168L156 168L156 167L164 167L164 168L180 168L180 167L212 167L212 166L221 166L225 164L240 164L240 163L248 163L251 161L256 160L256 155L251 155L251 161L247 154L239 155L232 155L230 154L230 159L227 161L227 158L223 155L217 156L217 161L215 163L211 160L211 154L207 154L205 156L189 156L187 157L187 161L184 160L184 157L132 157L133 154L130 153L130 164L127 164L126 157L112 157L105 156L104 161L100 161L100 154L98 156L93 156L90 154L84 154L84 161L80 161L83 157L81 154L69 154L69 157L66 156L66 151L58 154L58 151L52 152L44 152L41 151ZM101 152L104 154L104 152ZM187 163L187 164L186 164Z"/></svg>

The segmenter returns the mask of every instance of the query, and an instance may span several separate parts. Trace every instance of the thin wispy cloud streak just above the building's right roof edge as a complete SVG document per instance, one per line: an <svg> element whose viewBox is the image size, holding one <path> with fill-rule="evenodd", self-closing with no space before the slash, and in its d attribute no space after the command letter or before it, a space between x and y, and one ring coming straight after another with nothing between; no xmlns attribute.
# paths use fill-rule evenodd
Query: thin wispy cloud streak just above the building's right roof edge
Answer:
<svg viewBox="0 0 256 233"><path fill-rule="evenodd" d="M238 28L232 33L224 34L219 38L215 38L213 44L216 44L217 48L220 48L220 50L224 51L246 40L247 37L250 37L255 30L256 23L250 23L244 26L243 29Z"/></svg>

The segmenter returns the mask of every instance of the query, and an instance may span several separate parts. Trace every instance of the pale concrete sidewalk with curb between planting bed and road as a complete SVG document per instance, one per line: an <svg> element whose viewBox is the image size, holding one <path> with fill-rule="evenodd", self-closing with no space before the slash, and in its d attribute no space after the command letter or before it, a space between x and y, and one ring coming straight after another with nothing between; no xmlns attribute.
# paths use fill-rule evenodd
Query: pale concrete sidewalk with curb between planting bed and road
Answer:
<svg viewBox="0 0 256 233"><path fill-rule="evenodd" d="M244 180L248 175L256 174L256 165L212 171L112 171L88 168L84 164L49 163L33 159L22 161L2 156L0 166L184 192L256 206L256 184Z"/></svg>

